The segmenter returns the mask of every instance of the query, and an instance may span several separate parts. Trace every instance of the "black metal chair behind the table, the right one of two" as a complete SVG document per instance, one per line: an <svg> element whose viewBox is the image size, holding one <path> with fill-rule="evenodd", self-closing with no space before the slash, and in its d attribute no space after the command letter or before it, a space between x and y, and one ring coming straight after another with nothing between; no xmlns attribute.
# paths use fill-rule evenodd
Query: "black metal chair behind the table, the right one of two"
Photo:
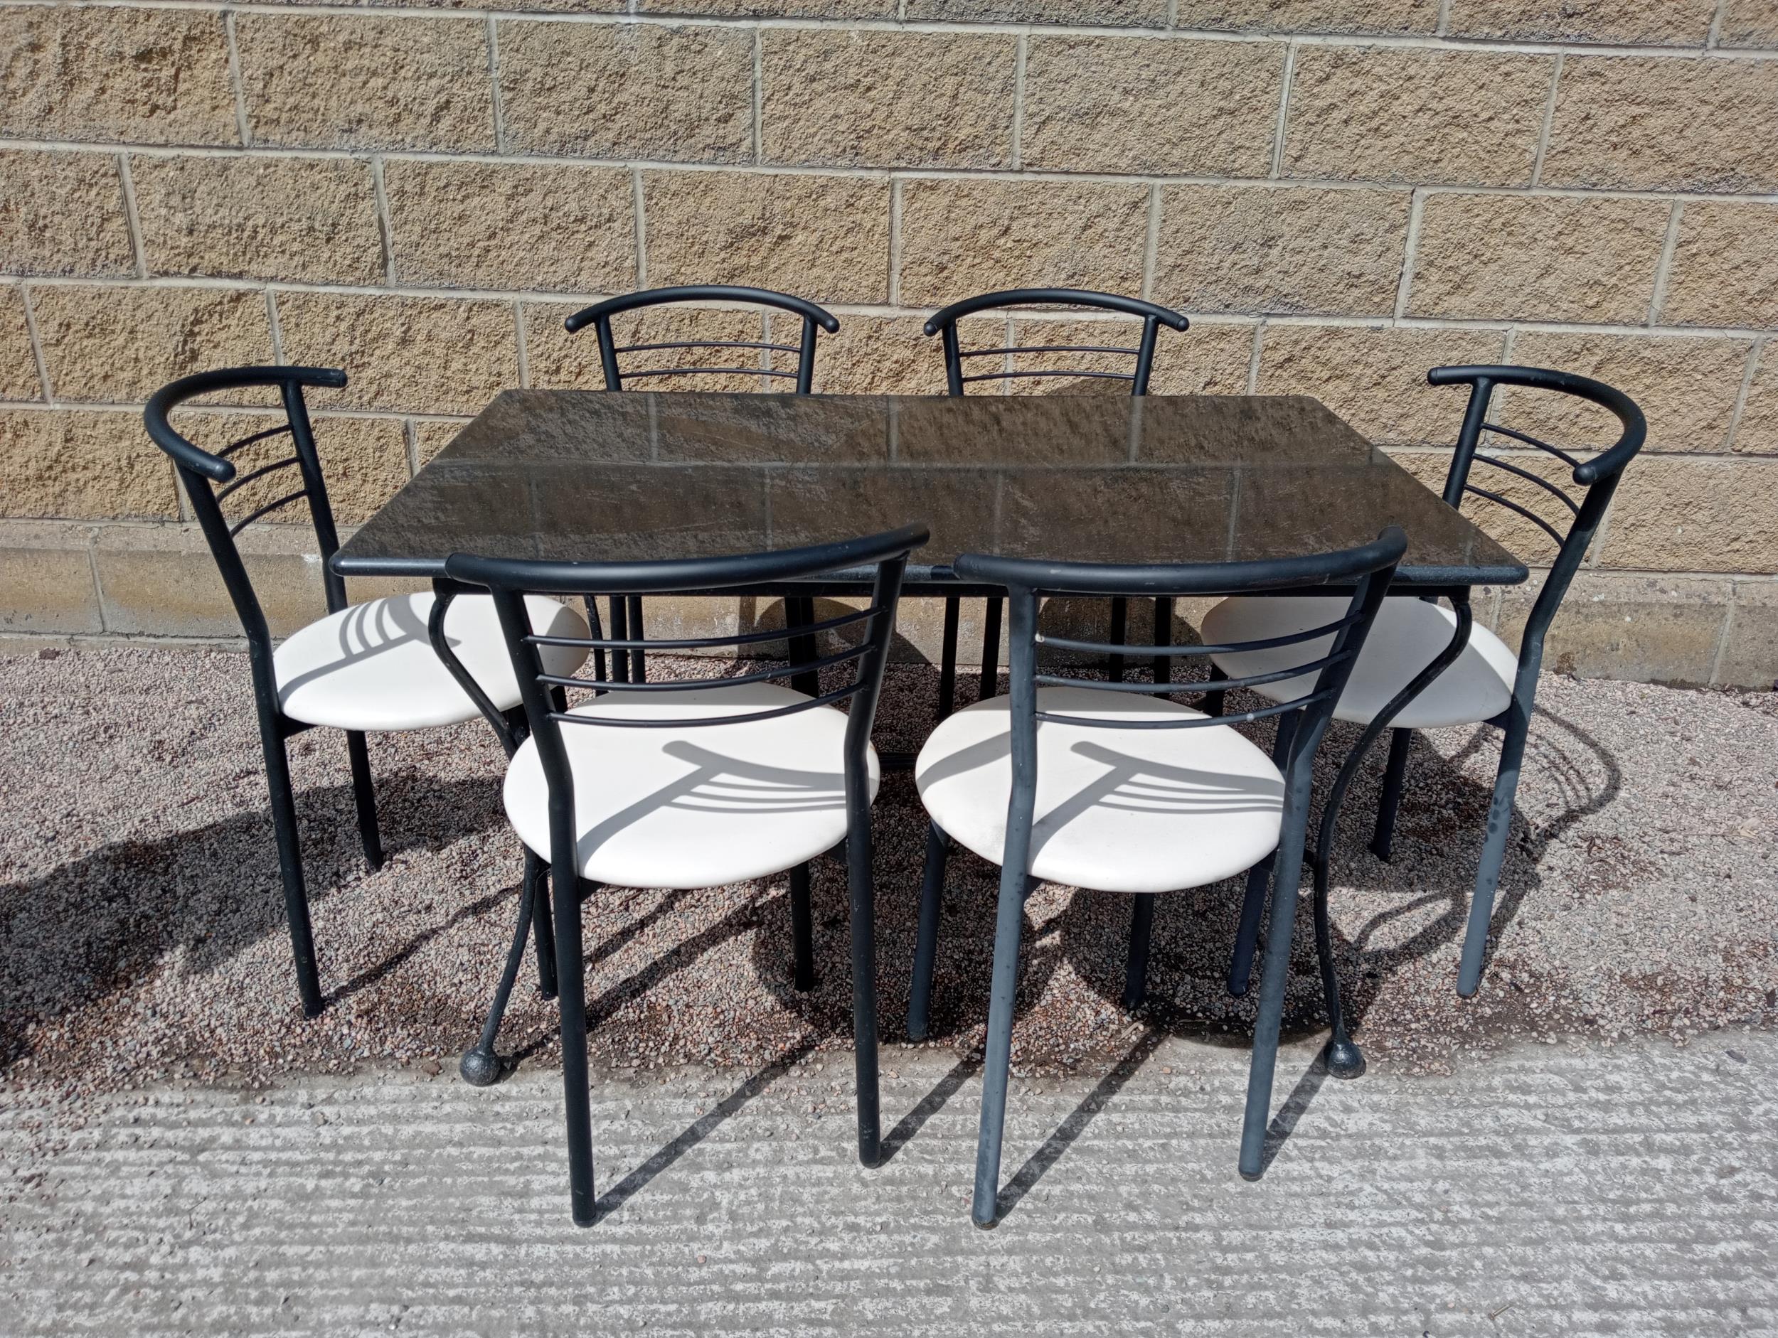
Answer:
<svg viewBox="0 0 1778 1338"><path fill-rule="evenodd" d="M1117 311L1125 316L1141 316L1141 334L1134 346L1129 345L997 345L989 348L964 348L957 336L957 322L964 316L973 316L981 311L1008 311L1022 307L1072 307L1086 311ZM1038 313L1038 320L1054 320L1051 313ZM1006 382L1006 380L1029 380L1029 378L1093 378L1093 380L1127 380L1131 394L1149 393L1149 373L1154 370L1154 345L1161 325L1173 331L1186 331L1191 322L1181 316L1177 311L1168 311L1166 307L1156 306L1154 302L1143 302L1138 297L1120 297L1118 293L1095 293L1085 288L1006 288L997 293L980 293L976 297L965 297L962 302L951 302L951 306L935 311L925 325L928 336L941 336L944 348L944 387L948 394L964 394L965 387L976 382ZM1054 354L1090 354L1099 359L1131 359L1129 371L1106 371L1104 368L1067 368L1067 366L1042 366L1042 368L1012 368L1008 366L1012 357L1017 355L1040 355L1049 357ZM978 357L997 357L1001 359L999 368L989 366L987 371L964 371L965 359ZM955 688L957 688L957 624L960 618L960 601L951 595L944 601L944 649L939 657L939 720L951 714L955 705ZM1156 606L1156 617L1172 617L1170 608ZM1111 601L1111 640L1118 645L1125 638L1125 624L1129 618L1129 601L1113 599ZM989 597L985 608L985 624L981 633L981 697L990 697L999 681L999 634L1001 634L1001 601L994 595ZM1113 681L1124 677L1124 657L1113 654L1106 661L1109 675Z"/></svg>

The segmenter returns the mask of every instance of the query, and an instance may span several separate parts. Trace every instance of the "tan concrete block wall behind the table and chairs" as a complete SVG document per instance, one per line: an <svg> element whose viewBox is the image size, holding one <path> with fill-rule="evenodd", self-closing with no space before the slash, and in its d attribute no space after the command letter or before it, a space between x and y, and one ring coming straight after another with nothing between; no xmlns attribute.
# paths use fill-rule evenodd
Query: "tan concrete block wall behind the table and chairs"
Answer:
<svg viewBox="0 0 1778 1338"><path fill-rule="evenodd" d="M183 371L347 368L315 407L352 522L498 389L596 386L560 320L608 293L798 291L843 322L818 389L933 391L926 311L1076 284L1191 315L1156 389L1317 394L1428 480L1431 364L1622 386L1650 450L1554 663L1769 686L1773 124L1778 0L0 4L0 634L229 634L140 432ZM765 327L637 322L706 331ZM1607 439L1540 400L1499 416ZM261 542L299 618L302 538Z"/></svg>

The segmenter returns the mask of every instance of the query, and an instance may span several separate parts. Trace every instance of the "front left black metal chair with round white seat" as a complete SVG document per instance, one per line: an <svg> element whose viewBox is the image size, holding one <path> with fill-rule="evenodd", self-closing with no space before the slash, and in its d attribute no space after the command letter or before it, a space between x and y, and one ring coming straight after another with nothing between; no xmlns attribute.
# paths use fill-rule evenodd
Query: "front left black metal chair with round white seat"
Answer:
<svg viewBox="0 0 1778 1338"><path fill-rule="evenodd" d="M587 1000L581 892L589 885L715 887L791 871L795 984L813 984L807 862L843 842L852 899L852 1007L857 1047L859 1160L880 1157L877 1109L877 945L869 808L880 769L869 745L901 570L926 542L923 526L818 547L672 561L507 561L453 554L452 579L485 586L500 611L525 695L530 739L507 771L507 816L526 848L548 860L562 1009L574 1221L594 1219L592 1114L587 1095ZM537 593L667 595L779 592L823 574L875 569L871 602L793 634L859 627L862 636L813 665L770 666L725 679L637 682L551 672L551 649L709 650L784 640L781 631L645 641L640 636L555 636L532 627ZM855 665L850 682L813 695L773 679ZM594 697L571 705L569 691ZM848 702L841 714L836 705ZM573 727L573 729L571 729ZM523 954L523 929L514 954ZM509 960L509 979L516 963ZM498 1006L503 1004L496 1000ZM498 1025L498 1016L494 1020Z"/></svg>

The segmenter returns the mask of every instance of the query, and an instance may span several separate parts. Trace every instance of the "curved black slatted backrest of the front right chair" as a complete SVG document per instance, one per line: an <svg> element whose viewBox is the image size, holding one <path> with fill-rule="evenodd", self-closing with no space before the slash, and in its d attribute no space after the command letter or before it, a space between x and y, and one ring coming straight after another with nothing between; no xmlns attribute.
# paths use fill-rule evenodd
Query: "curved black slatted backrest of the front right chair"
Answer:
<svg viewBox="0 0 1778 1338"><path fill-rule="evenodd" d="M1389 592L1389 583L1396 574L1396 563L1406 551L1406 537L1399 528L1389 526L1364 547L1339 553L1317 553L1300 558L1278 558L1271 561L1218 561L1191 565L1156 565L1136 567L1124 563L1085 563L1085 561L1040 561L1029 558L994 558L965 553L953 563L957 576L971 585L997 585L1006 590L1008 602L1008 649L1010 649L1010 707L1012 707L1012 759L1013 777L1031 778L1035 794L1037 777L1037 721L1054 721L1061 725L1085 725L1090 729L1205 729L1229 725L1264 716L1282 716L1301 713L1291 743L1289 757L1284 762L1285 777L1296 775L1307 784L1307 766L1314 759L1316 746L1326 732L1334 716L1334 704L1346 688L1353 661L1364 647L1364 638L1371 631L1376 611ZM1262 593L1268 590L1305 590L1314 586L1350 588L1351 599L1346 611L1321 625L1289 636L1271 636L1230 645L1152 645L1122 647L1102 641L1079 641L1063 636L1051 636L1038 631L1038 601L1045 595L1125 595L1145 599L1170 599L1173 595L1239 595ZM1191 691L1227 691L1230 688L1255 688L1264 682L1287 682L1309 677L1310 684L1287 702L1268 702L1262 707L1241 714L1225 716L1179 716L1147 714L1140 718L1088 720L1085 716L1067 716L1040 711L1037 705L1038 688L1079 688L1079 679L1058 677L1038 672L1038 647L1058 650L1083 650L1095 656L1104 654L1152 654L1166 657L1195 657L1213 654L1239 654L1243 650L1271 650L1284 645L1316 641L1332 636L1332 647L1325 654L1305 652L1300 665L1268 673L1253 673L1237 679L1223 679L1205 684L1179 682L1090 682L1085 686L1102 688L1113 693L1191 693Z"/></svg>

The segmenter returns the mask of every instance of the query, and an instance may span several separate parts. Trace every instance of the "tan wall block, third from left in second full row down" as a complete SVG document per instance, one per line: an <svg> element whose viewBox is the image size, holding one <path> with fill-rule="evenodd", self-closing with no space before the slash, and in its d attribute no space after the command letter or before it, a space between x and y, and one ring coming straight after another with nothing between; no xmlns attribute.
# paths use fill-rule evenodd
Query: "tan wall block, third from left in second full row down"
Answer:
<svg viewBox="0 0 1778 1338"><path fill-rule="evenodd" d="M391 162L395 281L624 291L637 281L635 192L622 167Z"/></svg>

